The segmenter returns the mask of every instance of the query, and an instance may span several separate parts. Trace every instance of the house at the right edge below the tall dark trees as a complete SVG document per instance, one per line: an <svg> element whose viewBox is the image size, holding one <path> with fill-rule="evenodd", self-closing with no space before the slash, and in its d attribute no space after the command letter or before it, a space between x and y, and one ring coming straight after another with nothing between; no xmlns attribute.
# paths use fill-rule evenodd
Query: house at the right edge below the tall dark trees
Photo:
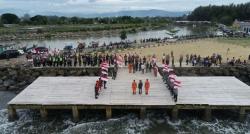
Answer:
<svg viewBox="0 0 250 134"><path fill-rule="evenodd" d="M233 27L239 29L240 31L250 34L250 21L238 21L235 20Z"/></svg>

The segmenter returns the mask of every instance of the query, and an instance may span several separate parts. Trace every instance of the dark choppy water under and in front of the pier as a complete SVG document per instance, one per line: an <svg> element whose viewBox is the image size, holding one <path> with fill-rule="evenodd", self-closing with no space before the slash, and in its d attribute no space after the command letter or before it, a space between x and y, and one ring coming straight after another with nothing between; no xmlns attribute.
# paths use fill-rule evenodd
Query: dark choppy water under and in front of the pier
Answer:
<svg viewBox="0 0 250 134"><path fill-rule="evenodd" d="M49 111L48 121L40 119L39 111L18 110L19 119L8 121L6 103L15 96L0 92L0 134L244 134L250 133L250 114L246 121L237 121L236 111L217 111L213 121L201 119L201 111L181 111L180 119L172 122L165 110L147 110L139 119L138 111L113 111L106 120L104 111L80 111L81 120L72 121L71 111Z"/></svg>

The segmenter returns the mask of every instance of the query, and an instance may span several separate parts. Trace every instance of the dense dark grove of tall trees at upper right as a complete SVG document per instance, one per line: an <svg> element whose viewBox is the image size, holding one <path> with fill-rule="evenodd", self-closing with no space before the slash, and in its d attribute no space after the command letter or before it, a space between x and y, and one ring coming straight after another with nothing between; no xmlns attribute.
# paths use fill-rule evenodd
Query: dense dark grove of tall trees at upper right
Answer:
<svg viewBox="0 0 250 134"><path fill-rule="evenodd" d="M191 21L212 21L231 25L235 19L250 20L250 2L223 6L200 6L189 16Z"/></svg>

